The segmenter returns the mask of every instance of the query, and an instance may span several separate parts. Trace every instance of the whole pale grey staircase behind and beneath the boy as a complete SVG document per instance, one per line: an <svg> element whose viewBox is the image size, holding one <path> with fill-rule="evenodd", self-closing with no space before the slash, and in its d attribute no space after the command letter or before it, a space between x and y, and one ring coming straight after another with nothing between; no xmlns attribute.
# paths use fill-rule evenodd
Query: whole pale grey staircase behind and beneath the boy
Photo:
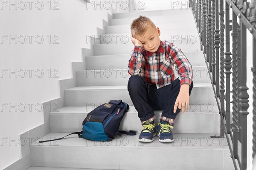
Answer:
<svg viewBox="0 0 256 170"><path fill-rule="evenodd" d="M142 126L127 90L130 77L127 65L134 46L131 40L123 43L125 38L118 37L130 38L130 24L139 15L150 17L160 28L160 40L174 42L182 49L194 71L189 112L180 113L175 119L172 130L175 142L172 143L161 143L157 136L151 143L138 142ZM136 130L137 135L123 134L111 142L93 142L77 135L53 142L35 141L30 146L32 167L29 170L234 169L227 140L210 138L219 134L220 116L200 40L191 38L198 37L191 9L113 14L109 22L110 26L102 35L107 42L95 44L94 56L86 57L87 70L76 72L77 87L66 89L66 106L50 113L52 133L43 140L81 131L87 113L103 103L119 99L130 105L119 130ZM161 112L155 111L157 121Z"/></svg>

